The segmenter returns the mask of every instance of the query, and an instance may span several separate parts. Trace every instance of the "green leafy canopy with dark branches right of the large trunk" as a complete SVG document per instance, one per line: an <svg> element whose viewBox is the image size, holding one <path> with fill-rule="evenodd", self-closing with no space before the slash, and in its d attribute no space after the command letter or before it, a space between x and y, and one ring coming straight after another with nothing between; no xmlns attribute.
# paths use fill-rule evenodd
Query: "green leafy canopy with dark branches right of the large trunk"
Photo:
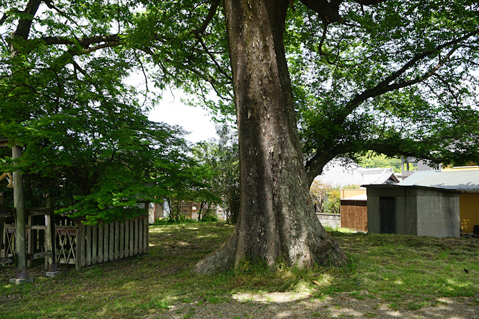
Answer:
<svg viewBox="0 0 479 319"><path fill-rule="evenodd" d="M367 150L478 161L477 3L344 1L335 24L297 10L287 43L311 178Z"/></svg>

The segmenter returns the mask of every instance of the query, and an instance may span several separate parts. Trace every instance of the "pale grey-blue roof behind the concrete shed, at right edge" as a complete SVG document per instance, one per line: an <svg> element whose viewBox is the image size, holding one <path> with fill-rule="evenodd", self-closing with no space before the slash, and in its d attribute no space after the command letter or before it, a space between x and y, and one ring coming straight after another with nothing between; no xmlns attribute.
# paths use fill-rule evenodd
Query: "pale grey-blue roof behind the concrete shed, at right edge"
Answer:
<svg viewBox="0 0 479 319"><path fill-rule="evenodd" d="M456 189L459 191L479 191L478 171L420 171L406 178L398 185Z"/></svg>

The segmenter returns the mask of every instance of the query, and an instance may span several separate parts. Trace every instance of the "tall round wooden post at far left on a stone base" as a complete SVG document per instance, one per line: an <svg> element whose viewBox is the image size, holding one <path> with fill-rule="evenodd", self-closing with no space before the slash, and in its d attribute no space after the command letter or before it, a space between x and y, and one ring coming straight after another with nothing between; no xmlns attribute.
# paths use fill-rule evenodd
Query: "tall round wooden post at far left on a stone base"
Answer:
<svg viewBox="0 0 479 319"><path fill-rule="evenodd" d="M22 148L12 146L12 157L22 157ZM26 234L25 234L25 202L22 171L13 172L13 206L15 207L15 254L17 256L17 270L15 278L10 282L20 284L33 282L26 273Z"/></svg>

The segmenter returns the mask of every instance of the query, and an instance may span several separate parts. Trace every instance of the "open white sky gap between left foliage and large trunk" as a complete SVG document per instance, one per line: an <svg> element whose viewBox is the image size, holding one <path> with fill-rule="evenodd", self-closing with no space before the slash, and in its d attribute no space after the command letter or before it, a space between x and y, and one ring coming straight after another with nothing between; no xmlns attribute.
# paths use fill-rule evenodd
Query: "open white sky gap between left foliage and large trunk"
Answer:
<svg viewBox="0 0 479 319"><path fill-rule="evenodd" d="M196 143L210 138L216 138L215 125L211 116L201 107L191 107L182 103L183 92L169 90L163 92L162 101L149 112L149 119L183 127L187 132L185 139Z"/></svg>

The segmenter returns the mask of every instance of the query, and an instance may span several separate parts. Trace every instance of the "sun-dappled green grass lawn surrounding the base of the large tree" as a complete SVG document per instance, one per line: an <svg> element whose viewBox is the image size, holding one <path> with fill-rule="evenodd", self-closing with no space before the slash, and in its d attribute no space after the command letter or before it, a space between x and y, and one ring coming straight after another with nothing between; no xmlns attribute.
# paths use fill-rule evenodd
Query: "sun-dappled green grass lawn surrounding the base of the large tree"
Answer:
<svg viewBox="0 0 479 319"><path fill-rule="evenodd" d="M200 318L201 311L215 307L269 307L271 313L280 309L275 308L280 295L304 309L314 304L317 310L310 316L318 318L344 310L335 302L341 298L367 305L367 311L339 317L417 311L417 318L425 318L419 316L421 309L440 309L451 300L479 309L477 239L332 231L351 257L347 267L279 265L270 271L245 262L226 274L192 275L192 266L232 231L224 223L151 225L147 256L85 267L80 273L60 265L65 274L56 278L44 277L42 265L32 266L29 275L35 282L21 286L9 283L12 266L0 268L0 318ZM221 311L211 318L244 318Z"/></svg>

